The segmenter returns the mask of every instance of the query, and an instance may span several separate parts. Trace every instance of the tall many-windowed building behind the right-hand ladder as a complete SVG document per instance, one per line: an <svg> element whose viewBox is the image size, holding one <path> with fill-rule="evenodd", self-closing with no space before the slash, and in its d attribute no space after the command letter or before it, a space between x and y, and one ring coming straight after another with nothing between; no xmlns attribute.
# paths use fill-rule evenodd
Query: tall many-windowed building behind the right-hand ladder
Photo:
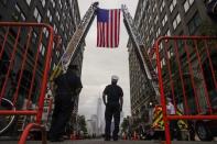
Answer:
<svg viewBox="0 0 217 144"><path fill-rule="evenodd" d="M207 14L206 2L206 0L139 0L134 24L145 47L141 51L151 54L153 44L160 36L202 34L199 27L203 24L215 23ZM152 62L156 70L155 55L152 56ZM164 65L165 59L162 58L161 63ZM154 96L149 92L147 79L130 41L129 67L131 112L132 115L138 115L142 114L143 109L149 108Z"/></svg>

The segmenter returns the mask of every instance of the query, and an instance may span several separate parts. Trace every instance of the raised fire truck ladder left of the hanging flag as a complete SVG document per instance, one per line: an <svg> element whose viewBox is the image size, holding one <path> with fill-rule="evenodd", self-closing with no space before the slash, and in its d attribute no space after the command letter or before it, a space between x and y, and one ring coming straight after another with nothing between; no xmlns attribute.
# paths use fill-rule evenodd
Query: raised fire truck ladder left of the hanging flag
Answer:
<svg viewBox="0 0 217 144"><path fill-rule="evenodd" d="M95 19L97 5L98 2L94 2L85 13L76 32L74 33L73 37L69 41L66 51L62 55L56 68L52 73L50 80L53 80L59 74L66 71L72 59L75 58L75 54L76 52L78 52L80 44L83 40L86 37L87 32L89 31L89 27Z"/></svg>

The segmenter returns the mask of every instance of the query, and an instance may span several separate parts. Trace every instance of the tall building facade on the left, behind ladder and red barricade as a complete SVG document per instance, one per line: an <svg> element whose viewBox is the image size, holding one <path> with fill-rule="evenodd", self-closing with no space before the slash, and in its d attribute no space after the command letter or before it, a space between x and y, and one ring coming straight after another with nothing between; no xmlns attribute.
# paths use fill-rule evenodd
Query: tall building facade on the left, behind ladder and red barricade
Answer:
<svg viewBox="0 0 217 144"><path fill-rule="evenodd" d="M1 22L33 22L33 23L46 23L50 24L54 29L55 37L54 37L54 45L52 52L52 59L51 59L51 70L50 75L52 74L53 69L56 67L61 56L65 52L69 40L72 38L73 34L76 31L77 25L80 22L80 13L78 8L77 0L1 0L0 1L0 21ZM1 30L3 31L3 30ZM12 34L14 32L11 32ZM24 33L23 33L24 34ZM46 55L46 42L48 37L48 32L43 32L44 36L42 37L42 46L40 47L40 58L43 58ZM39 40L39 31L33 31L32 33L32 41ZM0 38L3 38L3 35L0 33ZM25 37L23 37L25 38ZM2 41L1 41L2 42ZM22 45L22 36L20 45ZM76 57L72 63L78 65L79 75L82 74L82 64L83 64L83 52L84 52L84 44L82 44L80 51L77 53ZM4 67L7 67L6 63L9 60L10 52L6 52L3 54L3 59L0 64L0 70L2 71ZM35 52L29 52L28 60L30 64L32 63L31 53L34 54ZM15 62L19 63L21 58L18 56ZM40 65L43 67L43 63ZM39 67L40 69L40 67ZM14 76L18 74L18 69L13 69ZM1 73L1 75L6 75ZM25 75L26 76L26 75ZM31 78L25 77L24 80L28 81ZM40 81L37 81L40 84ZM22 87L22 86L21 86ZM23 86L24 89L29 89L29 86ZM35 88L40 88L37 85ZM35 97L39 97L36 95ZM35 98L37 99L37 98ZM73 111L73 118L76 118L78 112L78 100L79 97L76 98L75 108ZM35 101L36 102L36 101Z"/></svg>

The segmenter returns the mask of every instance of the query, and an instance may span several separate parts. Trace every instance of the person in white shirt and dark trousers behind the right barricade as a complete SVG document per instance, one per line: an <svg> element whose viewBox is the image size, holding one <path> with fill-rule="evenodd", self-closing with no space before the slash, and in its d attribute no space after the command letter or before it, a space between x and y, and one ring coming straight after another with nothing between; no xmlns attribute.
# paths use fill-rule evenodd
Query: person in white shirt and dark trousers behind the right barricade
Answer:
<svg viewBox="0 0 217 144"><path fill-rule="evenodd" d="M172 103L172 99L169 97L166 98L166 113L170 115L176 114L175 107ZM180 140L181 139L181 131L177 125L177 120L170 121L170 131L171 131L171 140L173 140L173 139Z"/></svg>

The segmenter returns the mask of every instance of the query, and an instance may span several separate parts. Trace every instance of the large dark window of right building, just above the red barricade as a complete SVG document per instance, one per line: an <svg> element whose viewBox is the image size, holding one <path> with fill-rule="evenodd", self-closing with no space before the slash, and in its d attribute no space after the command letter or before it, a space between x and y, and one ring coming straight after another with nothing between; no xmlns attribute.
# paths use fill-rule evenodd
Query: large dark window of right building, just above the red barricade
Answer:
<svg viewBox="0 0 217 144"><path fill-rule="evenodd" d="M188 31L189 34L194 34L197 30L197 27L200 25L202 23L202 19L198 14L198 12L192 18L192 20L188 22L187 26L188 26Z"/></svg>

